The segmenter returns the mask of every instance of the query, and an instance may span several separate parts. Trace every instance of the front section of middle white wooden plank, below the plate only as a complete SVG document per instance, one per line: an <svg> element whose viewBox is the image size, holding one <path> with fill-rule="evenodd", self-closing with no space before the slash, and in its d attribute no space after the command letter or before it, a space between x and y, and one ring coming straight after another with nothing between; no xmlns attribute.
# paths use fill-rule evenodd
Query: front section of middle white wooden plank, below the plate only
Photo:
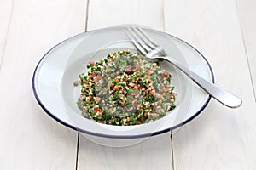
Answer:
<svg viewBox="0 0 256 170"><path fill-rule="evenodd" d="M170 133L164 133L137 144L113 148L96 144L82 134L78 169L172 169L170 140Z"/></svg>

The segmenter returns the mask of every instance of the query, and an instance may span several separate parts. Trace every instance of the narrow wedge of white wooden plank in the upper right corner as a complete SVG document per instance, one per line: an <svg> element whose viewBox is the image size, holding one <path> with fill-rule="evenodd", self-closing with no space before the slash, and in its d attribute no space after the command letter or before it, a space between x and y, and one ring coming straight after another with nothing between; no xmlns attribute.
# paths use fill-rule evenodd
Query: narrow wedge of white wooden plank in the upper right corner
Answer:
<svg viewBox="0 0 256 170"><path fill-rule="evenodd" d="M241 23L241 31L244 37L245 48L247 51L248 65L250 66L251 78L253 81L254 98L256 101L256 1L253 0L236 0L237 9Z"/></svg>

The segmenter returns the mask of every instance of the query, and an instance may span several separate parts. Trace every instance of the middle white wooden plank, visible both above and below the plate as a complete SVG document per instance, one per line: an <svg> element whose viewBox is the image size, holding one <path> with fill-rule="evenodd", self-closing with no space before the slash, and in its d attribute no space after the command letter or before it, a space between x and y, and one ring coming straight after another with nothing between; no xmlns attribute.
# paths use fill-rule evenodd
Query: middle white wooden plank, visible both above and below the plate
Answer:
<svg viewBox="0 0 256 170"><path fill-rule="evenodd" d="M90 1L88 16L89 30L127 23L164 30L162 3L157 0L94 0ZM123 148L95 144L80 135L78 167L79 169L172 169L170 133Z"/></svg>

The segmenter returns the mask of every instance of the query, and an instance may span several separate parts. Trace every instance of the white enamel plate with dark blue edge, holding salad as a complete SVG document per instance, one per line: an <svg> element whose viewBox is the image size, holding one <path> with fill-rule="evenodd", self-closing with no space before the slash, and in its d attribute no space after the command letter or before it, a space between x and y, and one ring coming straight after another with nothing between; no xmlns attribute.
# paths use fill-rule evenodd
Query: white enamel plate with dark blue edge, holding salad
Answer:
<svg viewBox="0 0 256 170"><path fill-rule="evenodd" d="M115 139L135 139L166 133L182 126L197 116L211 97L172 65L161 66L172 74L172 86L177 93L177 108L160 120L135 126L112 126L90 121L81 116L76 102L79 87L73 82L86 72L90 60L97 61L118 49L135 50L124 32L125 26L88 31L57 44L39 61L33 75L32 88L39 105L49 116L67 127L96 136ZM213 82L212 69L207 59L187 42L166 33L144 28L166 54L201 77Z"/></svg>

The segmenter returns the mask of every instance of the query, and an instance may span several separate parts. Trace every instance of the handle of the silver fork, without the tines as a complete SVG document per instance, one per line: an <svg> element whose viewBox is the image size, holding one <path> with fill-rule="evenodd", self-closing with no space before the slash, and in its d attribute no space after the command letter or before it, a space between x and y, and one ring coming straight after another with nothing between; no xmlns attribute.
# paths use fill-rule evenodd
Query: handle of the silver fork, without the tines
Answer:
<svg viewBox="0 0 256 170"><path fill-rule="evenodd" d="M172 59L168 56L163 56L161 58L166 59L167 61L172 63L172 65L177 66L179 70L183 71L183 73L190 77L198 86L200 86L208 94L210 94L212 98L217 99L223 105L226 105L230 108L237 108L241 105L242 101L240 98L236 97L233 94L230 94L222 88L218 88L218 86L216 86L212 82L205 80L204 78L197 75L195 72L190 71L188 68L181 65L177 60Z"/></svg>

